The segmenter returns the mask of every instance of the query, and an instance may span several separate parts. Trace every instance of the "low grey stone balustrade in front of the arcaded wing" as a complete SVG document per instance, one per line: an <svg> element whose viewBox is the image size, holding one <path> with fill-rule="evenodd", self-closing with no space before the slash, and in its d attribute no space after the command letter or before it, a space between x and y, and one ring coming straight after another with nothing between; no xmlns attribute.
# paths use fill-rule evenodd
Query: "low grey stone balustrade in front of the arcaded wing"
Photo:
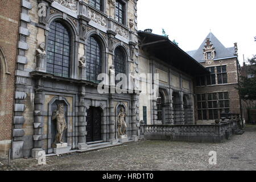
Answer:
<svg viewBox="0 0 256 182"><path fill-rule="evenodd" d="M229 139L234 126L233 121L212 125L142 125L140 138L217 143Z"/></svg>

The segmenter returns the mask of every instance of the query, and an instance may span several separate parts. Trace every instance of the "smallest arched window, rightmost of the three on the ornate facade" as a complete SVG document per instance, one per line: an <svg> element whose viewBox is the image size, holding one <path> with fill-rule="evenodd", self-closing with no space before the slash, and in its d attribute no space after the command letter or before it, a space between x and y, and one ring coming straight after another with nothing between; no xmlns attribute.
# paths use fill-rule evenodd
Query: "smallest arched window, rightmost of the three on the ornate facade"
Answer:
<svg viewBox="0 0 256 182"><path fill-rule="evenodd" d="M114 55L115 75L118 73L125 73L125 52L121 47L117 47L114 51Z"/></svg>

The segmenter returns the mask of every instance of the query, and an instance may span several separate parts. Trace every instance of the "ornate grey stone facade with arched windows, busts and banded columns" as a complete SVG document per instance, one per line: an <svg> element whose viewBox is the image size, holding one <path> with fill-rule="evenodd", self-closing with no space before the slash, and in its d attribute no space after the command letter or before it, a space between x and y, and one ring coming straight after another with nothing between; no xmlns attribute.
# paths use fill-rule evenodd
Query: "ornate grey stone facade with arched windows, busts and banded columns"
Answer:
<svg viewBox="0 0 256 182"><path fill-rule="evenodd" d="M19 28L13 158L54 152L59 105L69 150L117 143L121 108L127 139L138 140L138 89L97 90L99 73L138 72L137 0L23 0Z"/></svg>

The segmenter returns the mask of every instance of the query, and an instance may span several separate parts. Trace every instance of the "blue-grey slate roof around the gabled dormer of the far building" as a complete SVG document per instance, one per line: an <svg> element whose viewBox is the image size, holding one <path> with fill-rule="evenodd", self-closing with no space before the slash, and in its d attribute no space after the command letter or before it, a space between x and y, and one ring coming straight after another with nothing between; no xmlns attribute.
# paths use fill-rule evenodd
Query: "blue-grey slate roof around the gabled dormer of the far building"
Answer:
<svg viewBox="0 0 256 182"><path fill-rule="evenodd" d="M201 46L199 47L199 49L195 50L195 51L188 51L187 53L193 57L193 59L201 62L201 61L205 61L204 60L204 46L205 46L205 42L206 39L209 38L211 44L213 44L213 47L215 48L215 59L225 59L226 57L233 57L236 56L235 52L234 52L234 47L229 47L229 48L225 48L225 46L223 46L223 44L220 42L220 40L218 40L216 38L216 36L213 35L212 32L210 32L207 37L204 39L203 43L201 44Z"/></svg>

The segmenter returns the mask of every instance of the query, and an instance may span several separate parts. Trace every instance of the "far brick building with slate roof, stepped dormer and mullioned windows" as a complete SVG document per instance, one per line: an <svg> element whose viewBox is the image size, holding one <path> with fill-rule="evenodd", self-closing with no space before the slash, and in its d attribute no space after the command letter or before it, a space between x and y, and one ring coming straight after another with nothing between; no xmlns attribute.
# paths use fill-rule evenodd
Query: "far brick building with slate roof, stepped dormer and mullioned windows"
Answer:
<svg viewBox="0 0 256 182"><path fill-rule="evenodd" d="M236 113L243 116L243 107L238 94L241 67L238 62L237 43L225 48L212 34L207 35L199 49L187 52L210 71L210 75L196 78L197 123L212 122L221 113Z"/></svg>

